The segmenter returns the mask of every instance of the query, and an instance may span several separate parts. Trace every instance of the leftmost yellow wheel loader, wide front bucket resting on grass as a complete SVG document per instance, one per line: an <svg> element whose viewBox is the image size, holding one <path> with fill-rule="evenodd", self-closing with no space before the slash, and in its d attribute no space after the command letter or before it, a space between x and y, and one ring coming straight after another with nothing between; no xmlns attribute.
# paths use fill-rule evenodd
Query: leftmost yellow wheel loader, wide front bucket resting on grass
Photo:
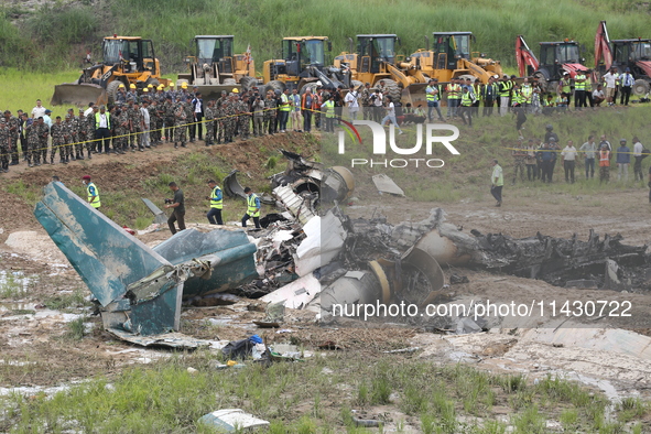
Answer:
<svg viewBox="0 0 651 434"><path fill-rule="evenodd" d="M133 84L143 88L150 84L158 86L171 83L161 77L161 66L150 40L113 34L105 37L101 46L101 63L84 69L75 83L54 87L51 100L53 106L113 102L120 84L127 87Z"/></svg>

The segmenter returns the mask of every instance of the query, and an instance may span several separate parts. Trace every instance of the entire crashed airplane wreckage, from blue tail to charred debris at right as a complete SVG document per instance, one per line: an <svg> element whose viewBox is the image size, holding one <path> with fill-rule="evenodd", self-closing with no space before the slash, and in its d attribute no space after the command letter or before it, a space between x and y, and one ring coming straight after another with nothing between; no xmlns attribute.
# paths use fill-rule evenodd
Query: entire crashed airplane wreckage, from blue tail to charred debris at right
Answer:
<svg viewBox="0 0 651 434"><path fill-rule="evenodd" d="M186 229L149 248L58 183L45 187L34 214L99 302L105 328L137 344L161 343L158 335L178 330L182 301L224 292L322 317L335 304L435 303L445 284L440 264L561 286L589 279L615 290L651 289L647 246L622 245L620 236L590 232L581 241L467 234L447 223L441 208L399 225L350 219L336 203L319 215L315 205L325 208L324 196L350 196L352 175L283 153L287 170L272 176L279 213L267 229L249 235L241 228ZM238 191L235 173L229 176L225 189Z"/></svg>

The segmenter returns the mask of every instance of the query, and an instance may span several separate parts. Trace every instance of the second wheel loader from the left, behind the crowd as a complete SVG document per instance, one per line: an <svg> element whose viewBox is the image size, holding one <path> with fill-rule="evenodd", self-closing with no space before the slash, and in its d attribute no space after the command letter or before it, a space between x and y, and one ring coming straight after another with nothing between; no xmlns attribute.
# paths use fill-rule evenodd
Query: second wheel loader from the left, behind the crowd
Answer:
<svg viewBox="0 0 651 434"><path fill-rule="evenodd" d="M206 100L217 98L221 90L248 90L257 85L251 53L232 54L234 39L232 35L195 36L192 40L195 55L185 58L189 70L178 74L177 85L197 86Z"/></svg>

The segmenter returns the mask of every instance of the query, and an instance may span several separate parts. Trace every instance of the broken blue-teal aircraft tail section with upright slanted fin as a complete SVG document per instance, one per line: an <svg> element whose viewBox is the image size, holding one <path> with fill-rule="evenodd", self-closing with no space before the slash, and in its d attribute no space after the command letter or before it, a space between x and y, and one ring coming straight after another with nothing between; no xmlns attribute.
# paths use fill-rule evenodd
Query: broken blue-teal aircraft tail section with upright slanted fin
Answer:
<svg viewBox="0 0 651 434"><path fill-rule="evenodd" d="M150 249L58 183L44 188L34 215L98 300L105 328L127 340L178 330L184 295L258 276L256 246L241 230L191 229Z"/></svg>

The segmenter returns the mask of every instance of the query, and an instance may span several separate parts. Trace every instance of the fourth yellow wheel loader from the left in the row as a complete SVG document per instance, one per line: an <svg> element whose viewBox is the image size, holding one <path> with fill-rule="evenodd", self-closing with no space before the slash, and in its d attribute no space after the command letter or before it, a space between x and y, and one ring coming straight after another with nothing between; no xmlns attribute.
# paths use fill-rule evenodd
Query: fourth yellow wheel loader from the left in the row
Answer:
<svg viewBox="0 0 651 434"><path fill-rule="evenodd" d="M356 88L364 83L375 87L384 80L384 94L394 101L403 98L403 90L408 93L406 99L411 99L410 94L417 93L424 97L427 77L409 63L400 62L400 56L395 54L399 41L395 34L358 34L357 53L352 50L341 53L335 57L334 64L350 70L350 83Z"/></svg>

